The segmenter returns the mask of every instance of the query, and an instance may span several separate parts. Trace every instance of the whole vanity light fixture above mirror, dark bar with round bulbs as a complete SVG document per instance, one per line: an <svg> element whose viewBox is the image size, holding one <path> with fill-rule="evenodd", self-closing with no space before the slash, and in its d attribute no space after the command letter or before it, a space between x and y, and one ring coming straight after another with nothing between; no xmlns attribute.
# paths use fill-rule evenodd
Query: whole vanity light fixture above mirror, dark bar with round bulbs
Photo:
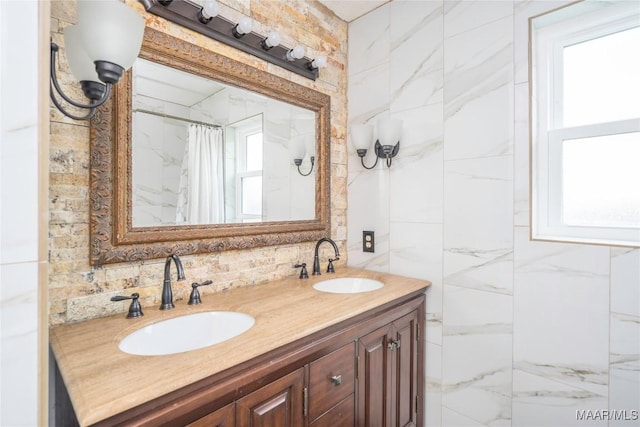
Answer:
<svg viewBox="0 0 640 427"><path fill-rule="evenodd" d="M270 33L268 37L252 31L252 21L244 17L233 23L218 14L215 0L206 0L199 6L189 0L138 0L147 12L182 25L214 40L257 56L284 69L315 80L319 69L326 67L327 59L304 56L304 48L293 49L280 45L280 35Z"/></svg>

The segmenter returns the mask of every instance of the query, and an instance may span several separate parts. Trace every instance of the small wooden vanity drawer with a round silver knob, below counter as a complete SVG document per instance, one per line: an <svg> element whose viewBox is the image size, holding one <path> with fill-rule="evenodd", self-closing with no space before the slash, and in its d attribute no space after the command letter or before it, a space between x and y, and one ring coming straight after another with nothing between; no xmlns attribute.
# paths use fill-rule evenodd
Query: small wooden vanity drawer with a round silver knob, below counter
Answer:
<svg viewBox="0 0 640 427"><path fill-rule="evenodd" d="M315 420L355 390L355 343L311 363L309 419Z"/></svg>

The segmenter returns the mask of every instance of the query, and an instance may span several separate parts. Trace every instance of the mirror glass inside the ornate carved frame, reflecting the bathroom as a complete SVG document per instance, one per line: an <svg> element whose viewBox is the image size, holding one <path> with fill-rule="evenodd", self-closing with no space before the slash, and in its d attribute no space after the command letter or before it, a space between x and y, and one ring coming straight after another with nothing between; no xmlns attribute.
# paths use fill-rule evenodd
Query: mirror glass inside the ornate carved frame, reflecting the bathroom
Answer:
<svg viewBox="0 0 640 427"><path fill-rule="evenodd" d="M133 227L309 220L315 113L138 58ZM302 153L302 154L301 154Z"/></svg>

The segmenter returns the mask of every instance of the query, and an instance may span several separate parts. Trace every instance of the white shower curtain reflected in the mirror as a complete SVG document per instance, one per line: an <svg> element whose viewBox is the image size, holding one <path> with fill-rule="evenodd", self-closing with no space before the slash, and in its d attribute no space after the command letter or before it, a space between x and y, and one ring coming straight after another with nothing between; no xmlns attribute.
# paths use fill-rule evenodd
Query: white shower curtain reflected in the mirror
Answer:
<svg viewBox="0 0 640 427"><path fill-rule="evenodd" d="M178 224L223 222L222 129L189 125L176 207Z"/></svg>

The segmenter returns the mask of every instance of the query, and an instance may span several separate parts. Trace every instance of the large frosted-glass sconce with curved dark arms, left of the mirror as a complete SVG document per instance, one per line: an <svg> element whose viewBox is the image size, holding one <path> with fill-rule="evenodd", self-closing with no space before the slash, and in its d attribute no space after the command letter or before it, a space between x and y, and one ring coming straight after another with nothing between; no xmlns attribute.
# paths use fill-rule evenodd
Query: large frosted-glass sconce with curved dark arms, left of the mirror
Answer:
<svg viewBox="0 0 640 427"><path fill-rule="evenodd" d="M109 99L111 86L118 83L140 53L144 19L118 0L78 1L78 23L64 30L64 43L69 67L80 81L89 103L72 100L61 89L56 76L58 45L51 42L51 90L53 104L74 120L89 120L96 108ZM89 110L84 116L69 113L56 98Z"/></svg>

